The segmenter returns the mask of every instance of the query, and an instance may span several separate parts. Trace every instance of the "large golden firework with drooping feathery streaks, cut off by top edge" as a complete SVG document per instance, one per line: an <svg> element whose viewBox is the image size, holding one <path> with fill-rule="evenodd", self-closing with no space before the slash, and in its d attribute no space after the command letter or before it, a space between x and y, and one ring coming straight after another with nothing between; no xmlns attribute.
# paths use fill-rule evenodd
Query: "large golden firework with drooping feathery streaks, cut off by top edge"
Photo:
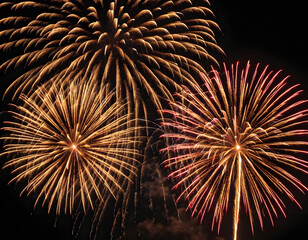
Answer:
<svg viewBox="0 0 308 240"><path fill-rule="evenodd" d="M9 88L16 94L45 79L81 78L115 88L130 112L146 115L145 100L160 109L159 96L172 99L170 87L194 83L216 63L211 54L222 50L208 7L196 0L6 1L0 51L9 55L0 70L23 68Z"/></svg>

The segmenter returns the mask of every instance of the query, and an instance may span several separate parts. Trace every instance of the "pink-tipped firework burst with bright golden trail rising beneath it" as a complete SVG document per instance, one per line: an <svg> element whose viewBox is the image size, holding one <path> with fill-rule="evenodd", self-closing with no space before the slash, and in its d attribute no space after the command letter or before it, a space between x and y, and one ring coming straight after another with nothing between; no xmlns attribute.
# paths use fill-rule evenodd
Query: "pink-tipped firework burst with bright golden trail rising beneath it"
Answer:
<svg viewBox="0 0 308 240"><path fill-rule="evenodd" d="M204 85L186 88L171 102L172 110L164 124L163 137L172 145L164 150L173 154L164 164L170 177L182 187L178 200L188 201L187 209L202 222L213 211L212 230L218 232L222 217L233 204L233 231L237 229L241 203L249 216L253 233L255 217L263 229L263 217L279 212L285 216L285 194L299 203L291 188L307 187L294 176L307 174L308 130L306 100L298 100L298 85L288 86L280 73L258 72L239 63L224 74L213 70L213 77L202 74ZM300 205L299 205L300 206Z"/></svg>

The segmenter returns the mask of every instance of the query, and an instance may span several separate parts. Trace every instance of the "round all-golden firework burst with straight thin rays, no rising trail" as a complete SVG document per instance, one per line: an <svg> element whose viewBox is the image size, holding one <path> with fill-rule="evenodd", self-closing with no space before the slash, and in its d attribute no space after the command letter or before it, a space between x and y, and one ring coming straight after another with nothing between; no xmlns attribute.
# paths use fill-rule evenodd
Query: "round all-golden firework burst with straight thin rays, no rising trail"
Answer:
<svg viewBox="0 0 308 240"><path fill-rule="evenodd" d="M79 203L86 211L95 199L117 199L136 174L136 129L126 106L96 89L76 82L42 86L32 98L21 95L23 106L14 106L3 127L11 181L26 183L22 193L35 194L35 205L48 204L48 211L72 213Z"/></svg>

